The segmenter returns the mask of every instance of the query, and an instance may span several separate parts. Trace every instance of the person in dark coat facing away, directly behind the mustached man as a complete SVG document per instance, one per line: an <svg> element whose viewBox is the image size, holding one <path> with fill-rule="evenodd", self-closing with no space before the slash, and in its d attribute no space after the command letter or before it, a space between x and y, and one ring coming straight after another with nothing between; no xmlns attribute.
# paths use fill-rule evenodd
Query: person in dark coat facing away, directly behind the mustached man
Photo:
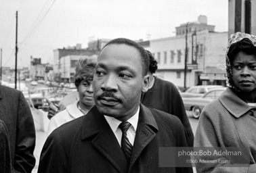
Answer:
<svg viewBox="0 0 256 173"><path fill-rule="evenodd" d="M152 107L177 116L186 128L186 132L188 134L188 145L193 147L194 134L186 114L182 97L179 95L179 91L177 91L177 88L172 82L153 76L157 70L157 61L154 59L150 51L147 52L150 57L150 66L148 68L150 84L148 91L146 93L142 93L140 101L147 107Z"/></svg>

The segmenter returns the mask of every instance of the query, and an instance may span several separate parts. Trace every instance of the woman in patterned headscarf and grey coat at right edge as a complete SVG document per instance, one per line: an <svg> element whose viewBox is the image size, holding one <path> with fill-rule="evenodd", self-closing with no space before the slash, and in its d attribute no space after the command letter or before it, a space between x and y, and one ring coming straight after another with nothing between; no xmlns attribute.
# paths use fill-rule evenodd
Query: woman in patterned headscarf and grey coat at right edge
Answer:
<svg viewBox="0 0 256 173"><path fill-rule="evenodd" d="M228 87L219 99L202 110L194 147L244 147L249 150L249 165L234 167L236 163L232 159L230 163L223 162L228 157L222 155L215 157L215 166L196 170L256 172L256 36L232 34L228 40L226 65Z"/></svg>

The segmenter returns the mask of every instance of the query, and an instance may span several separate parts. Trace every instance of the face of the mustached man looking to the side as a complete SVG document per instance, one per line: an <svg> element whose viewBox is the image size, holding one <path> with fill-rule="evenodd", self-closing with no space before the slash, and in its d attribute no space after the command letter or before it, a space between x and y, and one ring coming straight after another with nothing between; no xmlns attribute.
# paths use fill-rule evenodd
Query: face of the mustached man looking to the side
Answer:
<svg viewBox="0 0 256 173"><path fill-rule="evenodd" d="M128 120L140 105L142 91L147 90L148 76L142 76L137 49L108 45L101 51L93 77L93 96L101 114Z"/></svg>

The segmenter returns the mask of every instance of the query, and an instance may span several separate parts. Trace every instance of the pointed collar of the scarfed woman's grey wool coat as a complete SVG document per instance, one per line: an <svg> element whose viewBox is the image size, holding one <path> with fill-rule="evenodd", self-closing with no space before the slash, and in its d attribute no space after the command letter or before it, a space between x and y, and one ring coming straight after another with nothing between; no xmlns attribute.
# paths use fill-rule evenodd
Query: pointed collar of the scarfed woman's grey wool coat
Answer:
<svg viewBox="0 0 256 173"><path fill-rule="evenodd" d="M240 116L252 109L252 107L242 101L230 87L227 87L226 91L222 93L219 97L219 101L228 112L236 118L240 118Z"/></svg>

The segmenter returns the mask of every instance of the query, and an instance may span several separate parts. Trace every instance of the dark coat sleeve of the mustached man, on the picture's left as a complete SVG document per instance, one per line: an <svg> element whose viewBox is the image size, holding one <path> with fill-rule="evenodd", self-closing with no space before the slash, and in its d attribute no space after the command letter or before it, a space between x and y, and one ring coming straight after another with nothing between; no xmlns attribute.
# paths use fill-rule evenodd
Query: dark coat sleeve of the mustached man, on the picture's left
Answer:
<svg viewBox="0 0 256 173"><path fill-rule="evenodd" d="M68 162L70 149L74 134L78 130L78 127L81 126L83 118L84 116L62 124L62 126L51 132L41 151L38 173L69 172L71 167L69 165L70 162ZM73 124L72 122L77 122L77 124Z"/></svg>

